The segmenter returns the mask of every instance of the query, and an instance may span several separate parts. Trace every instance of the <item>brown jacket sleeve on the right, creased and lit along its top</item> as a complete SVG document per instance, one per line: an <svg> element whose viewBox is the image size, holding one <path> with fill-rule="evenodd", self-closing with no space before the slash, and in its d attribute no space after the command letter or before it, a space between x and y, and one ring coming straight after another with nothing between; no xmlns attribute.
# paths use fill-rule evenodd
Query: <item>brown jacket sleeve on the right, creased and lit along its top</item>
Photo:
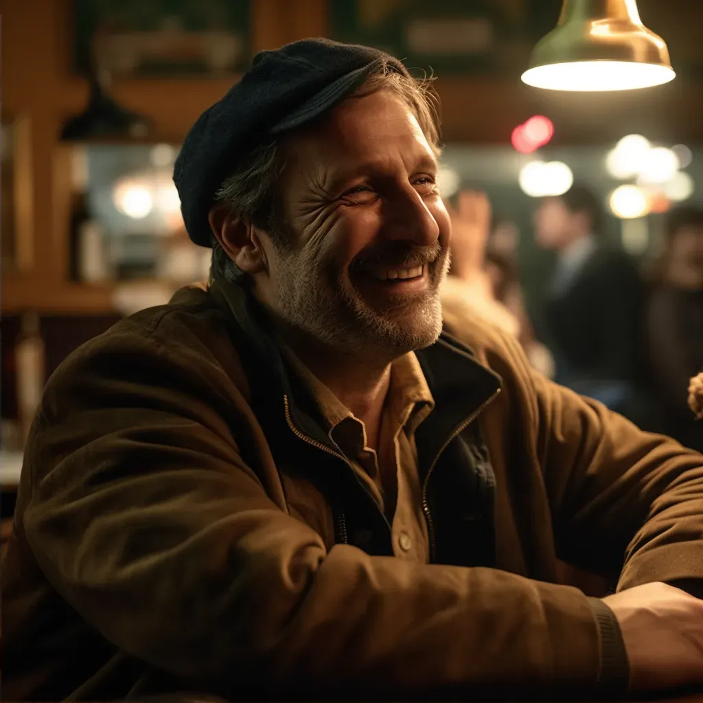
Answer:
<svg viewBox="0 0 703 703"><path fill-rule="evenodd" d="M703 579L703 456L536 374L558 555L618 588Z"/></svg>

